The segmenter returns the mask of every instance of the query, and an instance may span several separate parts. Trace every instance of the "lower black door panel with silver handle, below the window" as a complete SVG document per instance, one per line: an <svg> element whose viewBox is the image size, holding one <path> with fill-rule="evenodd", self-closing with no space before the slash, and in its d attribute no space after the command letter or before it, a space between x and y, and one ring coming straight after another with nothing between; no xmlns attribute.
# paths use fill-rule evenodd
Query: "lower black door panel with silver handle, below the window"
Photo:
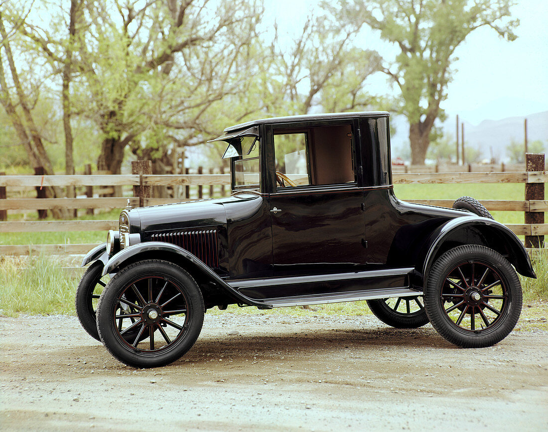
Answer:
<svg viewBox="0 0 548 432"><path fill-rule="evenodd" d="M363 270L362 189L287 189L270 195L275 276Z"/></svg>

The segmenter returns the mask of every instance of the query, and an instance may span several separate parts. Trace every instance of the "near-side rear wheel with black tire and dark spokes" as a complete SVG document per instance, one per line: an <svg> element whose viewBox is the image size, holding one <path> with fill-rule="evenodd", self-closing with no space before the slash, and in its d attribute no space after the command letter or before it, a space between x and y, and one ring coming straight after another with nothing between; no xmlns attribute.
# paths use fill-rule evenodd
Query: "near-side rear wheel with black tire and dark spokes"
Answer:
<svg viewBox="0 0 548 432"><path fill-rule="evenodd" d="M424 293L432 326L463 348L503 340L520 318L520 280L510 263L484 246L447 251L432 266Z"/></svg>

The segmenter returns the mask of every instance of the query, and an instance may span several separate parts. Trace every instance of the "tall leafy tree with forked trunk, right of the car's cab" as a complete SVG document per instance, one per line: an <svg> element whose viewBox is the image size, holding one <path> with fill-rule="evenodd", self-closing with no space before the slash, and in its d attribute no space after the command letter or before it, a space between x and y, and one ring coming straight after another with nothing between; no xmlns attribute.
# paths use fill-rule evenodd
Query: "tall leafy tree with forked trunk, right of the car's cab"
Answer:
<svg viewBox="0 0 548 432"><path fill-rule="evenodd" d="M440 103L447 98L455 49L480 27L490 27L508 41L519 24L512 20L514 0L339 0L332 13L343 23L368 25L391 42L399 54L383 72L401 95L398 112L409 120L412 163L423 164Z"/></svg>

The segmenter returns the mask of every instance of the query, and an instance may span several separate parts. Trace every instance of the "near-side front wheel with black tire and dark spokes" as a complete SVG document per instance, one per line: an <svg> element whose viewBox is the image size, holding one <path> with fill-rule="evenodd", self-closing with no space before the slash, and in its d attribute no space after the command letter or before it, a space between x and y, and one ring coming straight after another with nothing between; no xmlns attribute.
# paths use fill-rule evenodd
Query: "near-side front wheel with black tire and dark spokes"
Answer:
<svg viewBox="0 0 548 432"><path fill-rule="evenodd" d="M204 302L195 280L176 264L161 260L122 269L107 284L97 308L101 342L133 367L178 360L196 342L203 318ZM137 333L133 340L125 337L132 331Z"/></svg>

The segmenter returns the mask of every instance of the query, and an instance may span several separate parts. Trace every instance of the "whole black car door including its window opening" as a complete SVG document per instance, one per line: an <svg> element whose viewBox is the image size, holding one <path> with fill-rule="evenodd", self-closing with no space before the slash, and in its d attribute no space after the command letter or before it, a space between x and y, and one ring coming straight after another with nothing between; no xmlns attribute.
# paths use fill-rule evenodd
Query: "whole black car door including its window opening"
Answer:
<svg viewBox="0 0 548 432"><path fill-rule="evenodd" d="M344 273L366 264L353 130L351 122L273 129L275 276ZM298 295L298 285L290 289L285 295Z"/></svg>

